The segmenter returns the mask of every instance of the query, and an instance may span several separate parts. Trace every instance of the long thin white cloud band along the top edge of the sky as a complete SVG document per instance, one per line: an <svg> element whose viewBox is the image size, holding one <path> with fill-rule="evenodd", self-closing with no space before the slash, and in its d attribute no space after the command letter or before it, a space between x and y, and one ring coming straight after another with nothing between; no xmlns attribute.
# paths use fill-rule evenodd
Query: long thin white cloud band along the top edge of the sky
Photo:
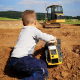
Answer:
<svg viewBox="0 0 80 80"><path fill-rule="evenodd" d="M44 0L22 0L21 2L18 2L19 5L42 5L42 4L47 4L47 5L63 5L63 4L73 4L74 2L80 2L80 0L60 0L57 1L53 0L51 1L44 1Z"/></svg>

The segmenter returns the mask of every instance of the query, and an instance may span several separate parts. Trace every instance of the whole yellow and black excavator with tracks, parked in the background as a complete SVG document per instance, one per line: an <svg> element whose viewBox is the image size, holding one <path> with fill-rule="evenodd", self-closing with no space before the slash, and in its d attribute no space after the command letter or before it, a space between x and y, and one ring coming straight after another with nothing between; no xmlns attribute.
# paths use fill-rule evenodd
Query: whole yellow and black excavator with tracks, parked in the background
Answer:
<svg viewBox="0 0 80 80"><path fill-rule="evenodd" d="M45 27L60 27L60 23L65 22L63 8L61 5L51 5L46 8L47 10L47 22L43 23Z"/></svg>

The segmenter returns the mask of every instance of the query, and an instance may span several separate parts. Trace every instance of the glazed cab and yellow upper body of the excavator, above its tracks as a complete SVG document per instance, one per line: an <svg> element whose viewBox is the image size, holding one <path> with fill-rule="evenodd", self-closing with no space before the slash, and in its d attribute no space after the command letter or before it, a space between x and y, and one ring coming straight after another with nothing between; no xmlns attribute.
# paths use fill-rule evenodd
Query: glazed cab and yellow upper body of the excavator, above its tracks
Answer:
<svg viewBox="0 0 80 80"><path fill-rule="evenodd" d="M63 8L60 5L51 5L46 8L47 23L61 23L65 22Z"/></svg>

